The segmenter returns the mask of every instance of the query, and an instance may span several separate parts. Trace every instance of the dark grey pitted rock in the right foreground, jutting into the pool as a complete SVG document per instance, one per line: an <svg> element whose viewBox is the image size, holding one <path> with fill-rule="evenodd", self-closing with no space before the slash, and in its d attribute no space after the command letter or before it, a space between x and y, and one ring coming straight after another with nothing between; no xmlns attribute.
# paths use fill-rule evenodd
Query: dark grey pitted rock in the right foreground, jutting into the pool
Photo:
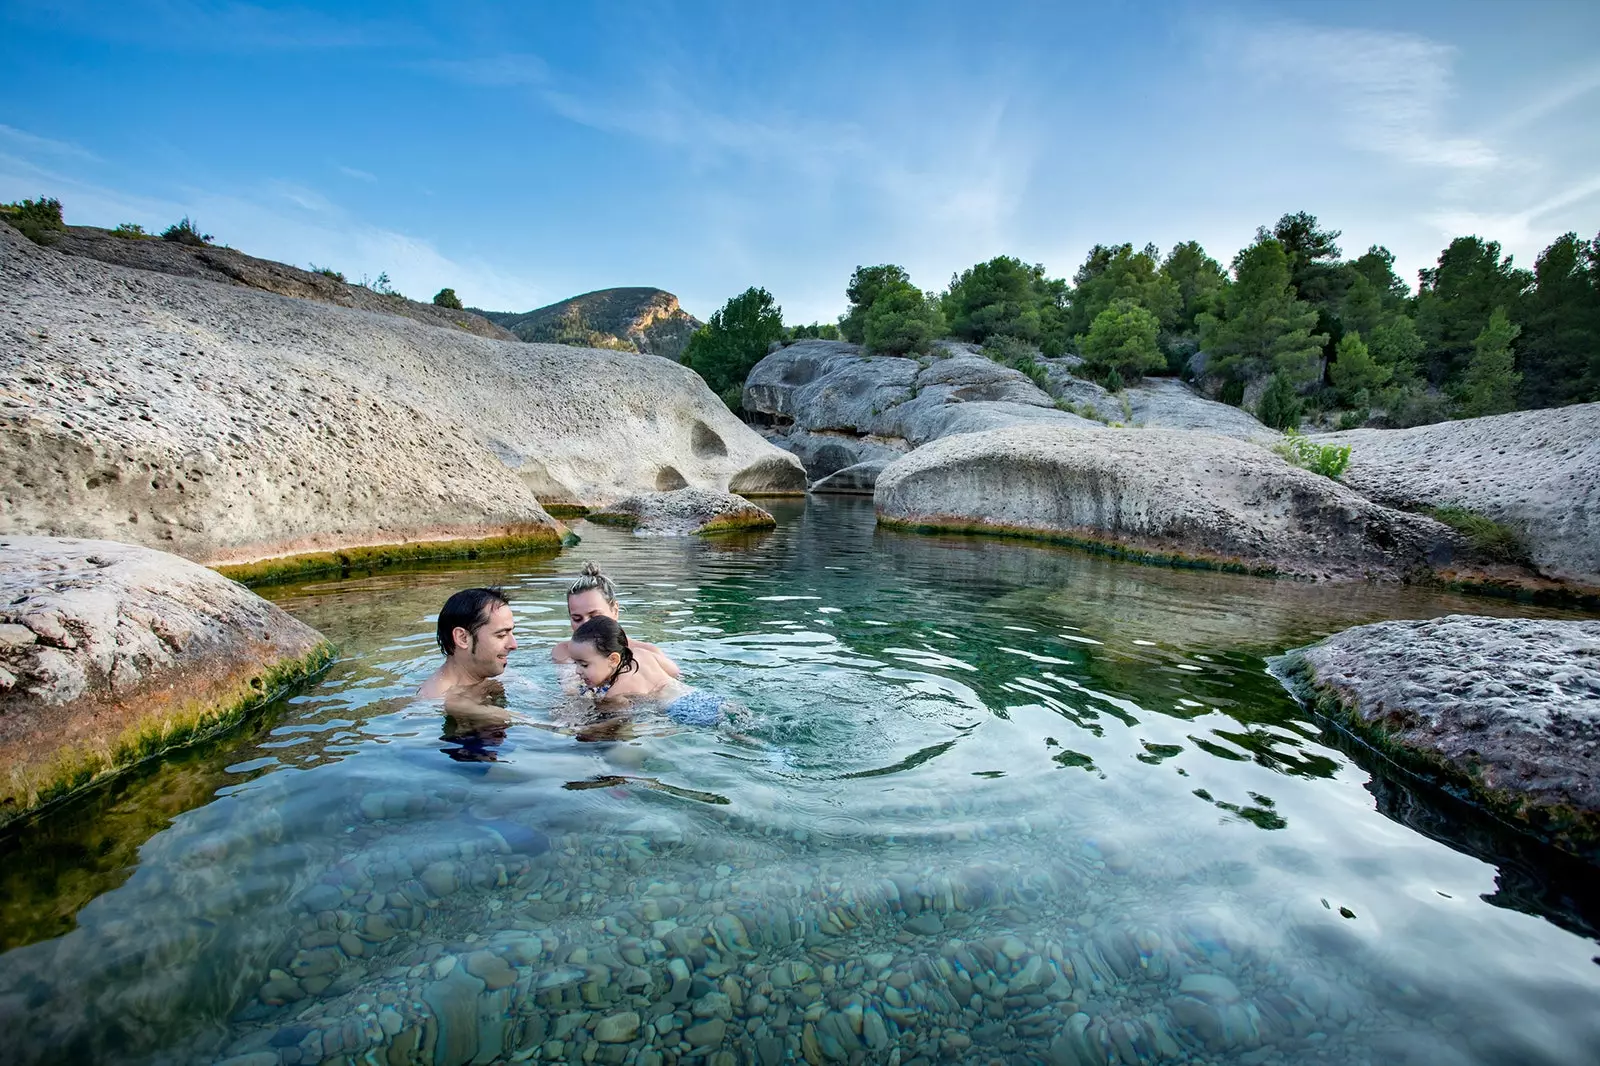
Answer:
<svg viewBox="0 0 1600 1066"><path fill-rule="evenodd" d="M1275 666L1314 707L1402 763L1600 856L1600 621L1376 623Z"/></svg>

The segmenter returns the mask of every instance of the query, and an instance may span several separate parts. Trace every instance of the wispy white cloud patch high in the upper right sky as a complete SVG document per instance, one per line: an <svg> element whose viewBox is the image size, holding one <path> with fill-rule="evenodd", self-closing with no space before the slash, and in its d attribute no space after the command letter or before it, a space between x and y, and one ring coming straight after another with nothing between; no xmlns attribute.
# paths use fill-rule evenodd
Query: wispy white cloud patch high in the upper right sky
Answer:
<svg viewBox="0 0 1600 1066"><path fill-rule="evenodd" d="M1482 170L1501 162L1486 141L1448 130L1450 45L1411 34L1283 22L1224 35L1238 69L1282 93L1310 88L1346 142L1403 163Z"/></svg>

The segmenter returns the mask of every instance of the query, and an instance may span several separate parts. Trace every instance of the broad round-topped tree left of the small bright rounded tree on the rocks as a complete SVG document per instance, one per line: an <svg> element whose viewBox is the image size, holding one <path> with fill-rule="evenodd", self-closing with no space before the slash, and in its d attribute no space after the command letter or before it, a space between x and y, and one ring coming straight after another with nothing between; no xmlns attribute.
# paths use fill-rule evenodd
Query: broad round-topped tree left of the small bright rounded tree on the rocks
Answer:
<svg viewBox="0 0 1600 1066"><path fill-rule="evenodd" d="M952 277L939 303L952 336L979 344L1011 336L1059 355L1067 341L1066 301L1067 283L1046 279L1043 264L995 256Z"/></svg>

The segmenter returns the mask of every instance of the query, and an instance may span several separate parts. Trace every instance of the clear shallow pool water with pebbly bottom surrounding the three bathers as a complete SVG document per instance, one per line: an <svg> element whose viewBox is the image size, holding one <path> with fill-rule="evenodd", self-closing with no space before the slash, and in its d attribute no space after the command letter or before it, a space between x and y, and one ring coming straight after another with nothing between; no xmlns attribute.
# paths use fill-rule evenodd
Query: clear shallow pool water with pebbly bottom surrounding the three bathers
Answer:
<svg viewBox="0 0 1600 1066"><path fill-rule="evenodd" d="M1266 672L1509 605L779 519L270 591L320 682L0 844L6 1061L1600 1061L1594 871ZM582 559L746 712L566 703ZM510 720L445 719L432 613L494 581Z"/></svg>

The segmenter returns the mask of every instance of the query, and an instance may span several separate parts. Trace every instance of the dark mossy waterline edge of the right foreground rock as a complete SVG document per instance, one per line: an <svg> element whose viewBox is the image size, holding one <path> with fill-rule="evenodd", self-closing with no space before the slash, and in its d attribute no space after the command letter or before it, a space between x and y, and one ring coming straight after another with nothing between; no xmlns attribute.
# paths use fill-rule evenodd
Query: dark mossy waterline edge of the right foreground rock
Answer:
<svg viewBox="0 0 1600 1066"><path fill-rule="evenodd" d="M1354 693L1317 677L1315 667L1296 650L1269 661L1270 672L1307 709L1376 752L1406 776L1446 792L1488 812L1498 821L1530 834L1546 844L1581 858L1594 860L1600 852L1600 813L1571 804L1541 804L1512 789L1496 789L1483 783L1482 767L1461 763L1403 743L1382 722L1362 717Z"/></svg>

